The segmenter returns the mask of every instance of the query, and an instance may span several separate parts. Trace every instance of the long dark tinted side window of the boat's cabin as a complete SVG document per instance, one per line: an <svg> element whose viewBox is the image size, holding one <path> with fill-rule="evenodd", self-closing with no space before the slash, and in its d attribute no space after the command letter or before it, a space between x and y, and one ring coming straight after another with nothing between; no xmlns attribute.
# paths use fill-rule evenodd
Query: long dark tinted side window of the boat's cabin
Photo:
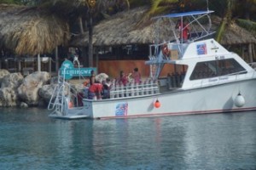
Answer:
<svg viewBox="0 0 256 170"><path fill-rule="evenodd" d="M235 59L219 59L197 63L190 80L245 73L247 71Z"/></svg>

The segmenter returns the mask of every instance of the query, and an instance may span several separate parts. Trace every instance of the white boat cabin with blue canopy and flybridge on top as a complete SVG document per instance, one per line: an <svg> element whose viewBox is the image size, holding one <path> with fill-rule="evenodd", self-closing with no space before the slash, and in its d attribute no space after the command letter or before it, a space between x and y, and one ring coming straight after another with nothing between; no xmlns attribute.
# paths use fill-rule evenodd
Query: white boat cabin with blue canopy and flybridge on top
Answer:
<svg viewBox="0 0 256 170"><path fill-rule="evenodd" d="M149 46L150 77L160 80L160 86L170 89L188 89L209 86L214 83L233 81L252 75L253 68L237 54L229 52L213 38L209 38L211 20L208 14L213 11L194 11L182 14L168 14L155 17L157 20L171 20L174 39L169 42L155 43ZM176 21L189 20L186 26L190 27L189 39L183 40L177 33ZM200 20L207 17L210 26L203 26ZM194 26L198 24L198 26ZM184 26L183 24L181 26ZM183 31L185 28L180 28ZM207 38L207 39L206 39ZM164 66L174 68L166 78L160 78ZM164 89L164 88L163 88Z"/></svg>

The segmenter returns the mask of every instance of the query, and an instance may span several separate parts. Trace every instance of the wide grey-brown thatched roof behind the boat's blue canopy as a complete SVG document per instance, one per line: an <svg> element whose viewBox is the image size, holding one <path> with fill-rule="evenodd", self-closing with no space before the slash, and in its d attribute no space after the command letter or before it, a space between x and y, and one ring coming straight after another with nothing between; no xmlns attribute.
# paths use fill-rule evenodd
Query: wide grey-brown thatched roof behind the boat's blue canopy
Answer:
<svg viewBox="0 0 256 170"><path fill-rule="evenodd" d="M109 20L103 20L94 27L93 45L148 44L156 41L155 36L159 36L160 41L169 40L169 37L173 37L171 29L166 28L166 26L159 28L159 35L154 34L155 20L148 20L147 23L138 26L137 23L143 19L146 10L147 8L135 8L115 14ZM220 19L214 17L212 29L217 29L220 21ZM224 45L255 43L255 37L255 35L252 35L252 33L234 23L225 31L221 43ZM88 32L85 32L82 36L73 37L71 45L75 47L87 46L88 39Z"/></svg>

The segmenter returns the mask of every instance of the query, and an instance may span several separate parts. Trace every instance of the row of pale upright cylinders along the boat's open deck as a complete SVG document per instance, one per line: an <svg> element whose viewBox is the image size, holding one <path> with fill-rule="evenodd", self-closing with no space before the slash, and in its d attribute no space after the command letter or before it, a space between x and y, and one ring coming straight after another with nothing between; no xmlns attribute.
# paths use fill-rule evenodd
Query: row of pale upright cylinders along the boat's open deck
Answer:
<svg viewBox="0 0 256 170"><path fill-rule="evenodd" d="M116 84L113 86L113 88L110 89L110 99L159 93L160 88L158 82L152 80L142 83L129 83L126 86L122 84Z"/></svg>

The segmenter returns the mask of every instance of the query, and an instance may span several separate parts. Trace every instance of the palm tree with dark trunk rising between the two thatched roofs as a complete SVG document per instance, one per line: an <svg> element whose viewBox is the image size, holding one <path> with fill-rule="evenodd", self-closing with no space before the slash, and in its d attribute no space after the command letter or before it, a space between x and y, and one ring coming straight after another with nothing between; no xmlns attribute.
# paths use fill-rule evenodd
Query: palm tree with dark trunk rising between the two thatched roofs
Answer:
<svg viewBox="0 0 256 170"><path fill-rule="evenodd" d="M85 62L84 65L89 67L93 66L92 34L96 21L102 19L101 16L108 16L109 8L115 8L114 12L116 13L124 8L129 8L130 5L128 0L34 0L33 2L38 3L39 8L46 8L62 18L69 19L71 24L73 24L73 20L79 19L81 34L84 33L84 26L86 26L89 32L89 44L88 62Z"/></svg>

